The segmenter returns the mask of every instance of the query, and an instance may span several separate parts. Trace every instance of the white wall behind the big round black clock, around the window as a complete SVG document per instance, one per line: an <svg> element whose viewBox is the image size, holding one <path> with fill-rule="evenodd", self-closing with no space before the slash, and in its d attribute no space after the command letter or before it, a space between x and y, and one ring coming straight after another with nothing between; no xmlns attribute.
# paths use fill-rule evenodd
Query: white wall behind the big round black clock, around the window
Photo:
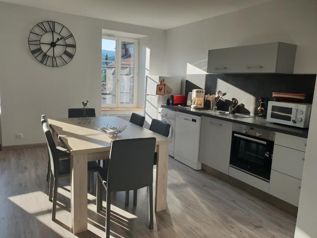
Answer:
<svg viewBox="0 0 317 238"><path fill-rule="evenodd" d="M64 24L76 40L76 54L63 67L51 68L39 63L30 53L28 36L34 25L42 21ZM100 73L102 29L146 35L139 50L151 49L151 74L161 74L165 31L76 16L50 10L0 2L0 97L2 145L45 142L40 116L67 117L68 108L88 106L101 115ZM142 43L145 42L144 45ZM145 61L145 59L143 60ZM142 71L139 69L139 72ZM144 71L144 70L143 70ZM145 73L139 77L144 87ZM144 89L138 89L142 92ZM144 98L144 95L139 97ZM144 100L144 99L143 99ZM143 101L138 100L138 106ZM23 139L16 139L23 133Z"/></svg>

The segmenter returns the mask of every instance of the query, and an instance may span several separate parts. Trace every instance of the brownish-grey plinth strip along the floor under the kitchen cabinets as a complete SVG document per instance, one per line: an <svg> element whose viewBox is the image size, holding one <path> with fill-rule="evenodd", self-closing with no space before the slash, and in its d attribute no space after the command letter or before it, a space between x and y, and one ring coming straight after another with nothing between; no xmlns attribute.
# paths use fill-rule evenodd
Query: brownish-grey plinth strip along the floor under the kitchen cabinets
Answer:
<svg viewBox="0 0 317 238"><path fill-rule="evenodd" d="M230 183L234 186L236 186L237 188L240 188L241 190L257 197L260 198L261 200L277 207L280 208L281 210L293 215L293 216L297 216L297 212L298 212L298 207L285 202L275 196L272 196L258 188L255 188L245 182L242 182L236 178L231 177L230 175L224 174L216 169L213 169L211 167L209 167L208 165L202 164L202 168L201 168L204 172L213 175L217 178L220 178L221 180Z"/></svg>

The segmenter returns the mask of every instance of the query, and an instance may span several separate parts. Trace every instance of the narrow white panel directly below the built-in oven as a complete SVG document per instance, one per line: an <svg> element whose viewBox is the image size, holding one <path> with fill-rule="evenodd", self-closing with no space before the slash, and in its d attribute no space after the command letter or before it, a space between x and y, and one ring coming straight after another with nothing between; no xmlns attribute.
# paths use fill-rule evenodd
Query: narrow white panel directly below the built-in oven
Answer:
<svg viewBox="0 0 317 238"><path fill-rule="evenodd" d="M268 192L269 183L255 176L244 173L238 169L229 167L229 175L264 192Z"/></svg>

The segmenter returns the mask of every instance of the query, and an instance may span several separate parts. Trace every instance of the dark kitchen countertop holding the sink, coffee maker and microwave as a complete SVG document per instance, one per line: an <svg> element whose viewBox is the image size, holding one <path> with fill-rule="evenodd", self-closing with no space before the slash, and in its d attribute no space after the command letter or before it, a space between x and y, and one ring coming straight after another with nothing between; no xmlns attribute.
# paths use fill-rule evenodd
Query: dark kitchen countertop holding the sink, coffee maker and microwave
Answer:
<svg viewBox="0 0 317 238"><path fill-rule="evenodd" d="M218 114L210 114L210 111L208 111L209 113L207 113L207 111L192 109L190 107L185 108L185 107L178 107L178 106L167 106L164 104L162 104L161 107L170 109L173 111L185 112L188 114L194 114L199 116L208 116L208 117L213 117L213 118L217 118L224 121L254 126L258 128L271 130L271 131L281 132L281 133L292 135L292 136L299 136L303 138L307 138L308 136L308 128L302 129L302 128L297 128L292 126L281 125L281 124L277 124L273 122L267 122L266 119L262 117L255 116L255 117L244 117L244 118L230 118L230 117L224 117Z"/></svg>

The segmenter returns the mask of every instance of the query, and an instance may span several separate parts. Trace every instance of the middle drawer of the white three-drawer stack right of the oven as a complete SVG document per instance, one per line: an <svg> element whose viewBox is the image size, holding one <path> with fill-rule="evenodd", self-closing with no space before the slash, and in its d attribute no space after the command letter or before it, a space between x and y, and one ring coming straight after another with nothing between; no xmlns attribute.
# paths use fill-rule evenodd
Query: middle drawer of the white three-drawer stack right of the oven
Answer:
<svg viewBox="0 0 317 238"><path fill-rule="evenodd" d="M301 180L305 152L274 145L272 169Z"/></svg>

